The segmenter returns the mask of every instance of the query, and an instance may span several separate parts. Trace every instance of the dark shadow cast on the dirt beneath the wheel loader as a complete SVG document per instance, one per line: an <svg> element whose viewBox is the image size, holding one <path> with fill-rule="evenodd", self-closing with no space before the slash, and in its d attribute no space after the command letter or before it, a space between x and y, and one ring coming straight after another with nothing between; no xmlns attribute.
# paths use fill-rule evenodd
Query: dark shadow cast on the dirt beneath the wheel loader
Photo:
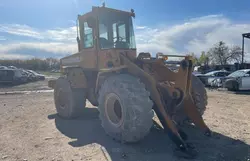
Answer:
<svg viewBox="0 0 250 161"><path fill-rule="evenodd" d="M63 120L56 114L49 115L48 118L55 119L56 127L62 134L74 139L69 142L72 147L100 144L113 161L184 160L173 155L175 146L157 125L152 127L150 134L141 142L120 144L105 134L96 108L86 108L82 116L75 120ZM154 122L154 124L157 123ZM250 159L250 146L240 140L216 132L213 137L208 138L193 126L183 127L183 129L188 134L189 141L199 151L199 156L195 160L247 161Z"/></svg>

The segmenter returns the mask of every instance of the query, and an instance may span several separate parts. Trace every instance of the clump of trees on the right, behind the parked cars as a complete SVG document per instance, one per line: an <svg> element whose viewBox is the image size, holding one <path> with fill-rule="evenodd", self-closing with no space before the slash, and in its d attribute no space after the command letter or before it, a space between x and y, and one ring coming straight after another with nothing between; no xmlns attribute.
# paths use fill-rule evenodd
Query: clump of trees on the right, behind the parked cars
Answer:
<svg viewBox="0 0 250 161"><path fill-rule="evenodd" d="M229 47L225 42L219 41L207 52L202 51L199 57L194 53L189 55L193 57L195 65L227 65L241 63L242 49L237 45Z"/></svg>

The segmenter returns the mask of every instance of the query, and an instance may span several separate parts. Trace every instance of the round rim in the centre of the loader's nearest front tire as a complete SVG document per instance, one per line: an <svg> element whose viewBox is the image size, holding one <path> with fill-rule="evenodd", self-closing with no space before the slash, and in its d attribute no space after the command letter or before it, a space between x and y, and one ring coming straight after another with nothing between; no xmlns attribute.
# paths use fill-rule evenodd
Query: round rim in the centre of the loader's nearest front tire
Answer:
<svg viewBox="0 0 250 161"><path fill-rule="evenodd" d="M116 127L121 126L123 122L123 107L119 97L110 93L106 96L105 100L105 113L109 122Z"/></svg>

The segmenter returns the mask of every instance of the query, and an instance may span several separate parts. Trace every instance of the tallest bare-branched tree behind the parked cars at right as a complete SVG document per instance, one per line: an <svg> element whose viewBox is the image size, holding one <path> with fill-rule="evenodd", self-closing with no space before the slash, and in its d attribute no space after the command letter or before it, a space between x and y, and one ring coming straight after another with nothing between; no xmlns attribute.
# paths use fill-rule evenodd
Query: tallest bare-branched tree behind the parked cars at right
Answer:
<svg viewBox="0 0 250 161"><path fill-rule="evenodd" d="M209 50L209 57L215 64L226 65L241 60L241 48L233 46L229 48L223 41L220 41Z"/></svg>

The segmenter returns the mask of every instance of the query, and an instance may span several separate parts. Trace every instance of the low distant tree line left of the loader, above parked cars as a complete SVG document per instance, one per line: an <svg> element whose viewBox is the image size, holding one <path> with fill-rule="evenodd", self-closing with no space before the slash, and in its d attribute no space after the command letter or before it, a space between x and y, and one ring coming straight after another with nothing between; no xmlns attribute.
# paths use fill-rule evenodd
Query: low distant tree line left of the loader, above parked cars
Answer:
<svg viewBox="0 0 250 161"><path fill-rule="evenodd" d="M60 61L56 58L32 59L0 59L0 66L15 66L17 68L48 71L60 68Z"/></svg>

